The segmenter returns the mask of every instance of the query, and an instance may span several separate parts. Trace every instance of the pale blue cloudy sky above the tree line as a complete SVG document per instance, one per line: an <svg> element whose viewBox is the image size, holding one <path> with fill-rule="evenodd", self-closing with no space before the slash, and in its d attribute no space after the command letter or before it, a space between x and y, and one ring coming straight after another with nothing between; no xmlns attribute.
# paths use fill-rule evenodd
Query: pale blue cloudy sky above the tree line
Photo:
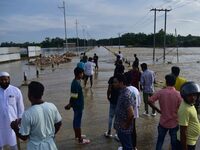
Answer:
<svg viewBox="0 0 200 150"><path fill-rule="evenodd" d="M167 13L167 33L200 36L200 0L65 0L67 37L110 38L127 32L153 33L152 8ZM0 0L0 43L64 38L62 0ZM164 12L157 12L157 31Z"/></svg>

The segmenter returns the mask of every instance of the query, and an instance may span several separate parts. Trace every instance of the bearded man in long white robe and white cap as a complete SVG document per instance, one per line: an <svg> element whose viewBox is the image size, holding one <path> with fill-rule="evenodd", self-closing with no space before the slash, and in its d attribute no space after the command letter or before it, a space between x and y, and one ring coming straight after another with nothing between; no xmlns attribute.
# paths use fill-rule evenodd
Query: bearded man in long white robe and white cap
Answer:
<svg viewBox="0 0 200 150"><path fill-rule="evenodd" d="M9 145L11 150L17 150L16 135L10 123L22 117L24 103L21 91L10 85L10 75L0 72L0 150Z"/></svg>

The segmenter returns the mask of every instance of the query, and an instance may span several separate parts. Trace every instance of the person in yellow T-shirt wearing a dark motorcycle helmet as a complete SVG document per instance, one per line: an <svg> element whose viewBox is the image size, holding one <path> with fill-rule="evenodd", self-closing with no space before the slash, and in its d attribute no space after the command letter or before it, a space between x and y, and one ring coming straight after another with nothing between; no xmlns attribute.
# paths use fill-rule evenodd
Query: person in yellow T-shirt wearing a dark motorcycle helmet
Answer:
<svg viewBox="0 0 200 150"><path fill-rule="evenodd" d="M195 150L200 135L200 123L194 104L200 95L200 87L194 82L186 82L182 85L180 93L184 101L178 110L180 129L177 133L177 149Z"/></svg>

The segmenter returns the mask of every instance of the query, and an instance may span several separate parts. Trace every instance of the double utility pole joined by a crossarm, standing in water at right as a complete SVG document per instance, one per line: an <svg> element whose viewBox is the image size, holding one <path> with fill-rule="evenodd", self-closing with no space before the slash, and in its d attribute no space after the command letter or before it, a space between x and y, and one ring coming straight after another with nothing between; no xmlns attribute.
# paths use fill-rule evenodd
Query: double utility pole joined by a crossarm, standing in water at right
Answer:
<svg viewBox="0 0 200 150"><path fill-rule="evenodd" d="M165 62L165 50L166 50L166 25L167 25L167 12L171 11L171 9L151 9L150 11L154 11L154 49L153 49L153 61L155 60L155 30L156 30L156 11L164 11L165 12L165 23L164 23L164 48L163 48L163 62Z"/></svg>

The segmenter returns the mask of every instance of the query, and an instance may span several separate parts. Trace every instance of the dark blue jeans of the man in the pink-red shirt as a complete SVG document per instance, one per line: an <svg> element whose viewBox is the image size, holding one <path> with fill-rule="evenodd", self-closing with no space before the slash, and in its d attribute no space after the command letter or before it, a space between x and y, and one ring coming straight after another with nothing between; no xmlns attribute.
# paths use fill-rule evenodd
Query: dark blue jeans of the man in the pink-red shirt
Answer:
<svg viewBox="0 0 200 150"><path fill-rule="evenodd" d="M177 144L176 133L178 131L178 126L176 126L175 128L164 128L160 124L158 125L158 139L156 143L156 150L162 150L162 145L168 130L169 130L169 135L171 137L172 150L176 150L176 144Z"/></svg>

